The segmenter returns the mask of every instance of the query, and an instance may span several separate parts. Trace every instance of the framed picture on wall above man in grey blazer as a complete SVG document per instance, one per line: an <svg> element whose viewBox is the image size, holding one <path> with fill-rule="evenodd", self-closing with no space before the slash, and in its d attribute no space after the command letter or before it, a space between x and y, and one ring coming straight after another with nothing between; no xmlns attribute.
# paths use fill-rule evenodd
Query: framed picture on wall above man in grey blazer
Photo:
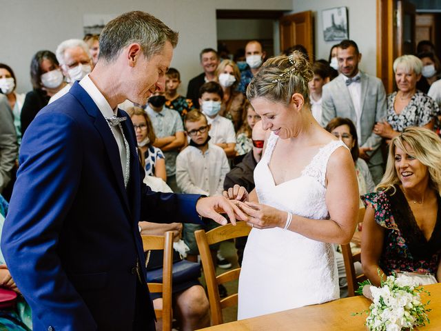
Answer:
<svg viewBox="0 0 441 331"><path fill-rule="evenodd" d="M325 41L340 41L349 38L347 7L322 10L322 21Z"/></svg>

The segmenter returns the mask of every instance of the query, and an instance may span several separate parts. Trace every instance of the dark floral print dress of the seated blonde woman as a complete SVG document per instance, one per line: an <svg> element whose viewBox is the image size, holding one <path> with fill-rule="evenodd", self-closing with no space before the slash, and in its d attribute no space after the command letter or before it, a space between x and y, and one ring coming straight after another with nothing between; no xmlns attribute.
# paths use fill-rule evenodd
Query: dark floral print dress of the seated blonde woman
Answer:
<svg viewBox="0 0 441 331"><path fill-rule="evenodd" d="M436 274L441 253L441 204L429 241L418 227L404 194L386 190L365 194L365 205L372 205L375 221L384 228L382 254L378 265L388 276L393 271Z"/></svg>

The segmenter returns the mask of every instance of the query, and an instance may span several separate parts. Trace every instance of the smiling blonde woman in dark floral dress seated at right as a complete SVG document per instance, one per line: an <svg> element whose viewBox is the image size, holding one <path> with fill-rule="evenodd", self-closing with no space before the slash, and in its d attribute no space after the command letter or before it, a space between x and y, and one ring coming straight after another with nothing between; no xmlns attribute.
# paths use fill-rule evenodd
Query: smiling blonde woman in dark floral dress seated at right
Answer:
<svg viewBox="0 0 441 331"><path fill-rule="evenodd" d="M373 285L392 272L430 273L440 280L440 188L440 138L424 128L407 128L393 138L377 192L362 197L367 210L361 260Z"/></svg>

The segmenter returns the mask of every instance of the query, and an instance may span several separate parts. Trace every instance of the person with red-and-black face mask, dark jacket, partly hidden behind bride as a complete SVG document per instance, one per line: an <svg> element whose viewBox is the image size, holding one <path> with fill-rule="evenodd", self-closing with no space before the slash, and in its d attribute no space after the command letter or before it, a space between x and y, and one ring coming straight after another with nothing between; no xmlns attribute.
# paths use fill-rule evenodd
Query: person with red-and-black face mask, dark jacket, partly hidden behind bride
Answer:
<svg viewBox="0 0 441 331"><path fill-rule="evenodd" d="M266 131L262 128L262 121L258 121L253 128L252 141L253 149L245 154L242 162L238 163L225 176L223 189L228 190L234 185L243 186L247 192L254 190L254 168L262 158L263 143L265 143ZM246 237L236 239L236 249L239 265L242 265L243 250L247 243Z"/></svg>

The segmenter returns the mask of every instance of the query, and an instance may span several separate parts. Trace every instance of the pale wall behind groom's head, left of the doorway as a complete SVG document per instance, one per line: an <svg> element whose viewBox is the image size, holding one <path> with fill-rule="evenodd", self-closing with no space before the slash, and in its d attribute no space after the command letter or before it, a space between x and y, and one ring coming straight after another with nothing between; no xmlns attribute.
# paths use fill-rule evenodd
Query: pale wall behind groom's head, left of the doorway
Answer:
<svg viewBox="0 0 441 331"><path fill-rule="evenodd" d="M187 81L202 70L198 54L216 48L216 9L293 10L293 0L0 0L0 62L14 70L18 92L31 89L29 67L38 50L54 50L70 38L83 37L83 15L118 15L130 10L154 14L180 33L172 66Z"/></svg>

